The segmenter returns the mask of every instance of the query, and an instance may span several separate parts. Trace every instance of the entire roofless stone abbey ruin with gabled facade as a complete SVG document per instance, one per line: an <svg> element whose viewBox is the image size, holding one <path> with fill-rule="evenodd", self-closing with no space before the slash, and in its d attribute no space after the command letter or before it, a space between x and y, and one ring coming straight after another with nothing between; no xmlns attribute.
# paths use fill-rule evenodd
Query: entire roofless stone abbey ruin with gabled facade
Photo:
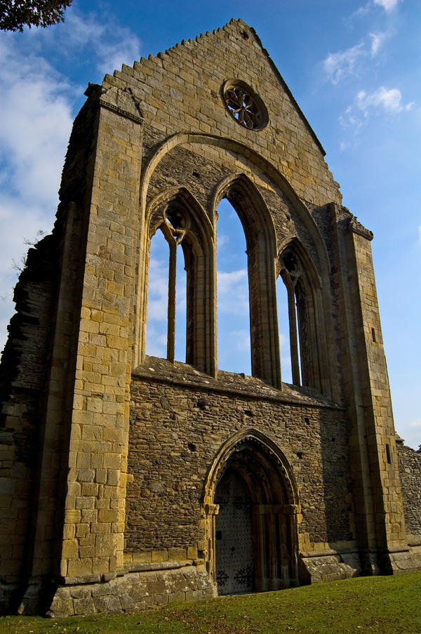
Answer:
<svg viewBox="0 0 421 634"><path fill-rule="evenodd" d="M421 454L396 445L373 235L254 30L232 20L86 97L0 366L3 611L119 612L420 569ZM246 237L252 376L218 371L221 199ZM156 232L166 359L145 355Z"/></svg>

